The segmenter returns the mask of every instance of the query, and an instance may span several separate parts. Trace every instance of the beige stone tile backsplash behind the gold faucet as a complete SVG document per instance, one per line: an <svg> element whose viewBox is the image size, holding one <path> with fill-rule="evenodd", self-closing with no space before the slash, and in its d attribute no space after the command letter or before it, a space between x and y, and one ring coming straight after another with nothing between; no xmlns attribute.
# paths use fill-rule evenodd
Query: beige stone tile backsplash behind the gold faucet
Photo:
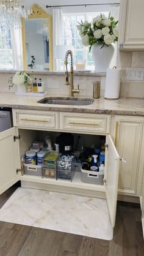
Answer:
<svg viewBox="0 0 144 256"><path fill-rule="evenodd" d="M117 67L121 68L121 86L120 97L144 98L144 79L141 81L126 80L126 70L129 67L144 68L144 51L118 51ZM32 78L41 78L45 83L45 89L49 95L69 95L69 86L65 85L64 73L32 73ZM15 91L14 88L9 89L9 78L13 76L13 72L0 72L0 91ZM80 96L93 96L93 81L101 81L100 96L104 96L106 74L105 73L77 73L74 72L74 88L79 85Z"/></svg>

